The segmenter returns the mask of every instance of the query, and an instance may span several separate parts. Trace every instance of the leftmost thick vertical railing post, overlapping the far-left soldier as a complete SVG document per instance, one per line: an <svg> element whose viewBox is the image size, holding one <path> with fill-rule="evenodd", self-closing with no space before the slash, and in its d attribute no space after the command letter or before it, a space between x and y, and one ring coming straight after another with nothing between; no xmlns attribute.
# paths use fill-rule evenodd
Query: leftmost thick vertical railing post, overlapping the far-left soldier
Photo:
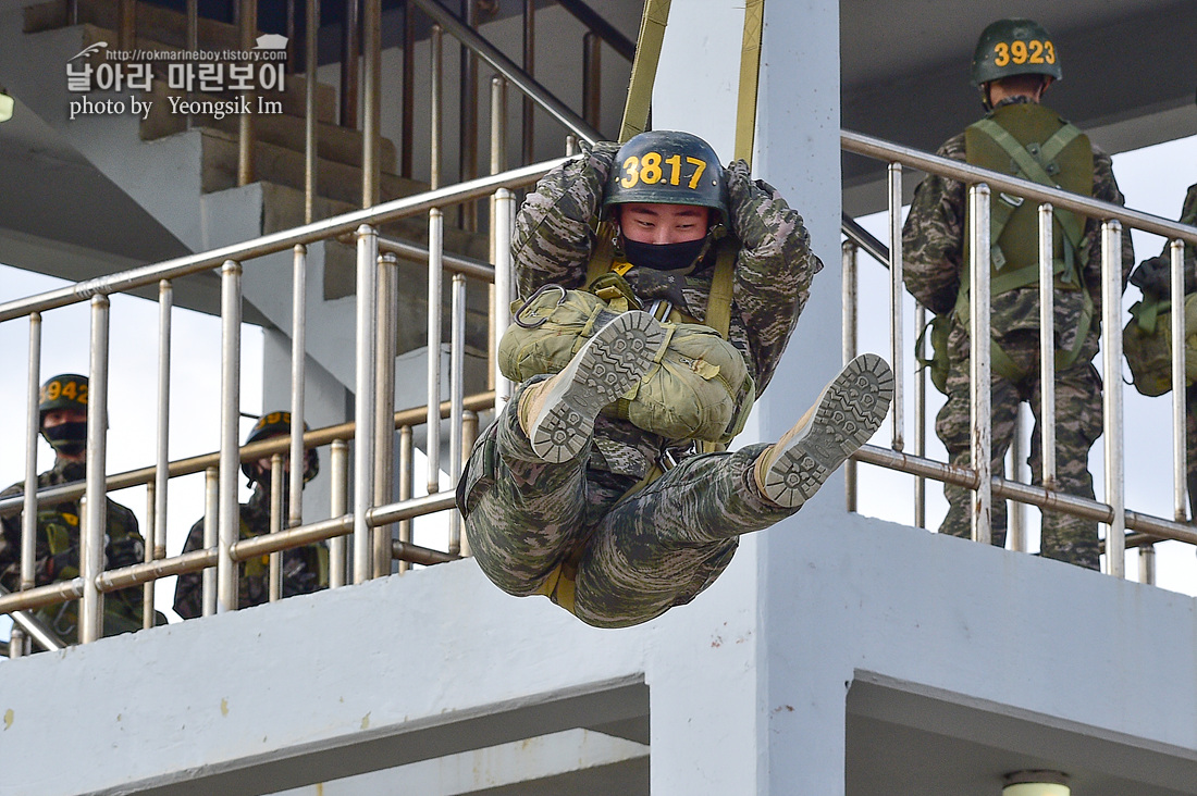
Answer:
<svg viewBox="0 0 1197 796"><path fill-rule="evenodd" d="M104 571L104 540L108 535L108 296L91 297L91 365L87 378L87 508L84 515L79 569L83 573L83 603L79 610L79 642L87 644L104 634L104 594L98 578Z"/></svg>

